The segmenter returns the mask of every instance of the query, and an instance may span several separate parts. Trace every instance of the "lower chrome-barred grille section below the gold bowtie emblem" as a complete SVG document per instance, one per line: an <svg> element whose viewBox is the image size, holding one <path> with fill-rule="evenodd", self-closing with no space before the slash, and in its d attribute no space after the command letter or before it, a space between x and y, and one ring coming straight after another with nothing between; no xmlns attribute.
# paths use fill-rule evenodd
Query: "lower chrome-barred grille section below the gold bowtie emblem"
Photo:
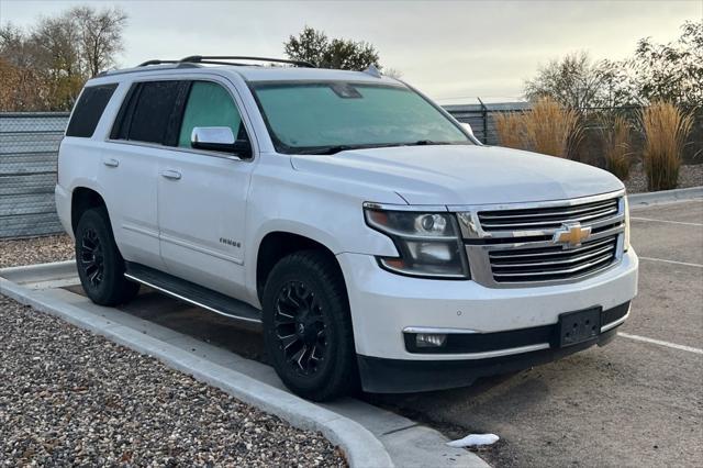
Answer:
<svg viewBox="0 0 703 468"><path fill-rule="evenodd" d="M617 235L584 242L580 247L561 246L489 250L496 282L574 279L607 268L617 253Z"/></svg>

